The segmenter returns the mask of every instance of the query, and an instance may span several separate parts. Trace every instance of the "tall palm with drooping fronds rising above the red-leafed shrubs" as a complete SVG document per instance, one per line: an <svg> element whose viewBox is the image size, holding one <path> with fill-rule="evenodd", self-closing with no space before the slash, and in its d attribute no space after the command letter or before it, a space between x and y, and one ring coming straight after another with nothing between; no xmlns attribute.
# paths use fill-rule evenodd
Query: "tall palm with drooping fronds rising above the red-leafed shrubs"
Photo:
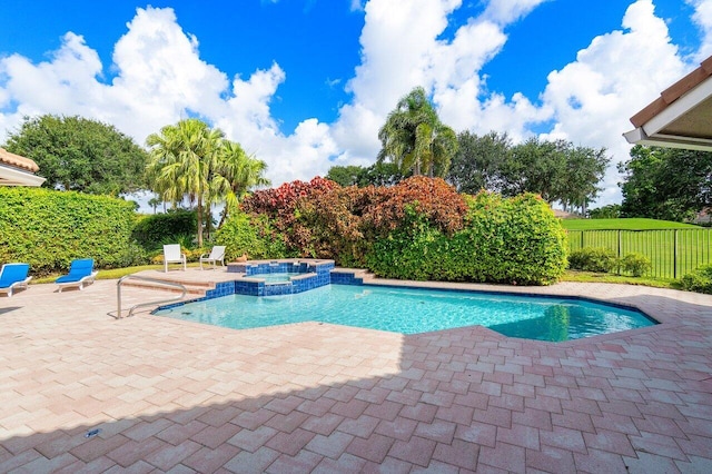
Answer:
<svg viewBox="0 0 712 474"><path fill-rule="evenodd" d="M398 100L378 139L383 146L378 162L389 158L403 174L426 170L431 177L443 177L457 151L457 136L439 120L422 87Z"/></svg>

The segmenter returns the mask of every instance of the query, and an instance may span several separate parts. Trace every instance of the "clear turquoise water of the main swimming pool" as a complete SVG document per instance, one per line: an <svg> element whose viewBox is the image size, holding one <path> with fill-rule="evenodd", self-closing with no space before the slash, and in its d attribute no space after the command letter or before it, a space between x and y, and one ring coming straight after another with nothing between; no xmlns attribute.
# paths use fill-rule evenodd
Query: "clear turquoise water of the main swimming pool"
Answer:
<svg viewBox="0 0 712 474"><path fill-rule="evenodd" d="M235 329L322 322L417 334L482 325L505 336L551 342L655 324L641 312L582 299L350 285L284 296L224 296L155 314Z"/></svg>

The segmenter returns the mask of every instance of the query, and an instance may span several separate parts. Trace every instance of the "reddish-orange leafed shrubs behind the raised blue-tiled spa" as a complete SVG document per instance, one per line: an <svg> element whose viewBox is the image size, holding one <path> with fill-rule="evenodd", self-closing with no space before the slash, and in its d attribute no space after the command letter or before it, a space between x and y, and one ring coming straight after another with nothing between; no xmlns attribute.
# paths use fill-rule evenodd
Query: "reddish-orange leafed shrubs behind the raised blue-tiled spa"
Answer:
<svg viewBox="0 0 712 474"><path fill-rule="evenodd" d="M317 177L308 184L256 191L241 207L250 215L268 216L296 255L363 265L365 247L376 236L385 237L406 224L406 206L448 235L462 229L467 211L454 187L423 176L388 188L363 189L342 188Z"/></svg>

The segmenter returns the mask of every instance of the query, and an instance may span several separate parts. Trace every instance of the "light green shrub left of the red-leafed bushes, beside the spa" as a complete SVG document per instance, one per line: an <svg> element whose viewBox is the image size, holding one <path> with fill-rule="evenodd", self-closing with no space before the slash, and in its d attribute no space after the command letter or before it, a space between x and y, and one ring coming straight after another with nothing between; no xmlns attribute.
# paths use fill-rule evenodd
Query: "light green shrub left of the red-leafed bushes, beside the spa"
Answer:
<svg viewBox="0 0 712 474"><path fill-rule="evenodd" d="M224 245L225 261L243 254L249 258L284 258L287 256L284 239L273 231L267 216L231 215L215 234L217 245Z"/></svg>

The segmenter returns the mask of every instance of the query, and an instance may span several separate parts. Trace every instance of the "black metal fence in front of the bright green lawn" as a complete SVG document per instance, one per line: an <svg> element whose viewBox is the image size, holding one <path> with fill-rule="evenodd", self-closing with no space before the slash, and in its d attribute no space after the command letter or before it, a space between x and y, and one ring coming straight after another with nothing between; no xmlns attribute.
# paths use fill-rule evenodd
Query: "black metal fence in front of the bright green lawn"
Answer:
<svg viewBox="0 0 712 474"><path fill-rule="evenodd" d="M712 264L712 229L568 230L568 249L605 247L619 258L633 251L650 258L647 276L680 278Z"/></svg>

